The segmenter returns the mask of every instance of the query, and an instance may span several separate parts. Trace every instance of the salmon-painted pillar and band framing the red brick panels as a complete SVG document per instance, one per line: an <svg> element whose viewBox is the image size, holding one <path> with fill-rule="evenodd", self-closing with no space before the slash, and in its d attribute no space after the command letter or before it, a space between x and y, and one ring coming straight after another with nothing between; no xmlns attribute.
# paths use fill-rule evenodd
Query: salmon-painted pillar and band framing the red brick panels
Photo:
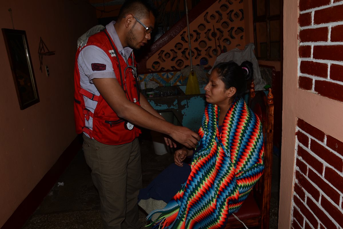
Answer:
<svg viewBox="0 0 343 229"><path fill-rule="evenodd" d="M288 229L291 228L292 219L297 119L305 120L309 125L342 142L343 103L298 88L298 0L284 1L283 12L283 75L285 77L283 77L279 228Z"/></svg>

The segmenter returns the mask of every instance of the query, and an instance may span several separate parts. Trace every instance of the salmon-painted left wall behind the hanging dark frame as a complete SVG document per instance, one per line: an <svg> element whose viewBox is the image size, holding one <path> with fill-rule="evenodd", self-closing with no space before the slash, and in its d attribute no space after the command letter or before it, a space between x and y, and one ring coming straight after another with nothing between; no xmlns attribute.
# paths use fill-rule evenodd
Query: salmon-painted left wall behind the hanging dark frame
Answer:
<svg viewBox="0 0 343 229"><path fill-rule="evenodd" d="M76 40L96 25L95 10L82 1L2 1L0 27L25 30L40 102L20 110L3 36L0 36L0 227L76 137L73 69ZM42 37L54 56L44 56L50 76L39 70Z"/></svg>

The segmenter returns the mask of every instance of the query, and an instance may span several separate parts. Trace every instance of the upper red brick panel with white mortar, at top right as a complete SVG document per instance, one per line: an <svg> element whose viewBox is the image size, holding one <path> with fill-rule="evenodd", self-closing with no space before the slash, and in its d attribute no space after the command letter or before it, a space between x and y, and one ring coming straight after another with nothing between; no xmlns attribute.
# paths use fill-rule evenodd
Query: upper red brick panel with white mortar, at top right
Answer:
<svg viewBox="0 0 343 229"><path fill-rule="evenodd" d="M343 1L299 0L301 89L343 101Z"/></svg>

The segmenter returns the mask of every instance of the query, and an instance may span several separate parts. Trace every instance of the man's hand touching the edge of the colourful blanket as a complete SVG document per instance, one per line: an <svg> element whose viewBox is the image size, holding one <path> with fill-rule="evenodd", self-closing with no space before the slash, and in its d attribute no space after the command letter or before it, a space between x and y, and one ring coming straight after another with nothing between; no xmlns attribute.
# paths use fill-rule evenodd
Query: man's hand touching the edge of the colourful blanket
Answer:
<svg viewBox="0 0 343 229"><path fill-rule="evenodd" d="M195 148L200 141L197 133L184 126L174 126L173 131L169 134L175 141L181 143L187 148Z"/></svg>

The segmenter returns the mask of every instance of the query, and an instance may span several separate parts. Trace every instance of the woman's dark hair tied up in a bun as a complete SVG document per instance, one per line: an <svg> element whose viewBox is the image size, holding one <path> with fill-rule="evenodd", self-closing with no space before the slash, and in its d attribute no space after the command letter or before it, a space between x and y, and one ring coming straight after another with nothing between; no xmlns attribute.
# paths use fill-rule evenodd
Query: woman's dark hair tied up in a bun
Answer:
<svg viewBox="0 0 343 229"><path fill-rule="evenodd" d="M247 89L247 80L253 76L252 63L244 61L238 65L234 61L217 64L213 70L217 70L218 77L224 82L225 89L236 88L235 97L243 96ZM212 71L213 71L212 70Z"/></svg>

